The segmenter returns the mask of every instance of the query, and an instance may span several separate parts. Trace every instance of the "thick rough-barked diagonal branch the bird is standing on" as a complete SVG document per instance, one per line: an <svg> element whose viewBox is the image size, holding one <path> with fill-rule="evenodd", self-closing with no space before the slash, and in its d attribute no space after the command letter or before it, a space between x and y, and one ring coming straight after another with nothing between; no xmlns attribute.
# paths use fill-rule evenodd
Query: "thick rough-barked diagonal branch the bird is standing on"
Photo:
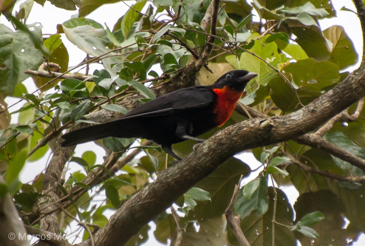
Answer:
<svg viewBox="0 0 365 246"><path fill-rule="evenodd" d="M237 152L297 138L365 96L362 70L306 107L281 117L250 119L217 132L177 165L130 198L95 236L96 245L126 243L151 219ZM120 233L123 231L123 233ZM114 237L110 237L114 235ZM88 242L84 242L87 245Z"/></svg>

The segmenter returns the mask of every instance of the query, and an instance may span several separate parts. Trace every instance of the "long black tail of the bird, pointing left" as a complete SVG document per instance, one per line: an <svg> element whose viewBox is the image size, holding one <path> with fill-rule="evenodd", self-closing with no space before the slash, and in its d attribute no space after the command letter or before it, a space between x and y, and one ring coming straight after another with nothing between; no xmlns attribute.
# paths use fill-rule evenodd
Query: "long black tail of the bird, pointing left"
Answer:
<svg viewBox="0 0 365 246"><path fill-rule="evenodd" d="M67 147L74 144L110 137L113 132L111 130L113 129L112 127L114 127L114 123L109 122L68 132L61 136L61 138L64 139L61 146Z"/></svg>

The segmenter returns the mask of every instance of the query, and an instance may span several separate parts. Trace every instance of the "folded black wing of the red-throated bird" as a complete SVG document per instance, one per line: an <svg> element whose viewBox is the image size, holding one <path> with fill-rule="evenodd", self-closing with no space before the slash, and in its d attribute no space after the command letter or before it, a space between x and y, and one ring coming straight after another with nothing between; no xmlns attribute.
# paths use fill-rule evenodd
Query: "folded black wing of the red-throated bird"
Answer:
<svg viewBox="0 0 365 246"><path fill-rule="evenodd" d="M188 108L206 107L214 102L215 97L213 90L206 86L183 88L146 102L116 120L169 115Z"/></svg>

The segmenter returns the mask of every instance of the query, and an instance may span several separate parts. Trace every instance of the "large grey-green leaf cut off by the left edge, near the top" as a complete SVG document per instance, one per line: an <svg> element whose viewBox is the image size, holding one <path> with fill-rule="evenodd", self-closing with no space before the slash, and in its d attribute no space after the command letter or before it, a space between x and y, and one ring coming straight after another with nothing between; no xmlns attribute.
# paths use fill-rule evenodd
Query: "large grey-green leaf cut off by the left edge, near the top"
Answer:
<svg viewBox="0 0 365 246"><path fill-rule="evenodd" d="M42 26L34 28L34 35L42 39ZM28 78L24 74L27 69L37 70L43 61L42 51L34 47L29 35L21 30L13 32L4 24L0 24L0 92L12 95L15 86Z"/></svg>

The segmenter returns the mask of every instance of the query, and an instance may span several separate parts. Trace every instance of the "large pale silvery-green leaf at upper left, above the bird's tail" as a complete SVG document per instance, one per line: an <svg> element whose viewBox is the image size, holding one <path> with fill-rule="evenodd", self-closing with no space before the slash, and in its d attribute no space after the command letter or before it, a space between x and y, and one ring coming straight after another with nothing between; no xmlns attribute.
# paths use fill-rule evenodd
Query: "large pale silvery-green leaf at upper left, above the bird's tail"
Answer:
<svg viewBox="0 0 365 246"><path fill-rule="evenodd" d="M74 18L62 24L63 30L68 40L79 49L91 56L100 56L110 52L109 46L112 44L105 29L99 23L84 18ZM109 53L115 54L114 52ZM105 69L112 75L112 64L122 63L120 56L109 56L103 59Z"/></svg>

